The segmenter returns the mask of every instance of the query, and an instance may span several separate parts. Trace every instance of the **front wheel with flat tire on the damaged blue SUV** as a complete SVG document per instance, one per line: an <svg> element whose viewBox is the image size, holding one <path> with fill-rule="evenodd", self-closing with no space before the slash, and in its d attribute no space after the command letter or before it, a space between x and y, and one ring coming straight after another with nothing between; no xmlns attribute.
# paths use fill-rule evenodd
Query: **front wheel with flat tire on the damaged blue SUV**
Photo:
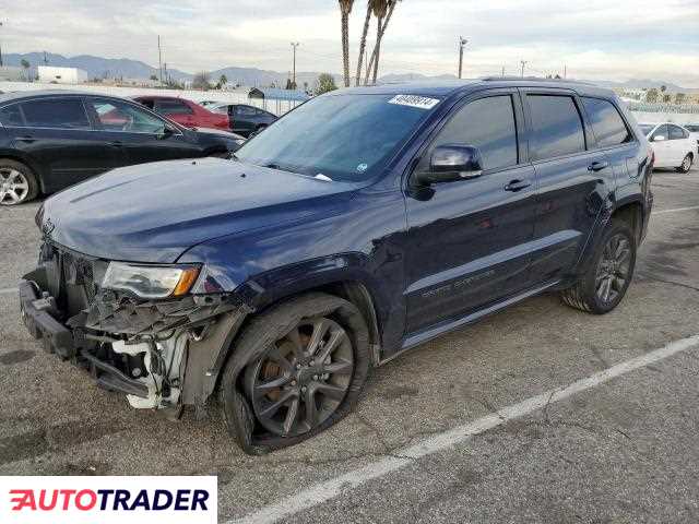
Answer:
<svg viewBox="0 0 699 524"><path fill-rule="evenodd" d="M312 293L273 306L245 327L226 364L228 432L252 454L307 440L351 412L369 362L368 329L352 302Z"/></svg>

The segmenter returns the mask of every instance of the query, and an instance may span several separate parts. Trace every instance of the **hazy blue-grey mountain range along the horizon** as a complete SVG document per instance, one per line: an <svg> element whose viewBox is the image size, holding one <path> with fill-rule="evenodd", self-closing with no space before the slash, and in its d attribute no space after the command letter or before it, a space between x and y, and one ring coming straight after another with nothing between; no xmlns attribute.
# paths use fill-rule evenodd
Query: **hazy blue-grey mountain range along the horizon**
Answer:
<svg viewBox="0 0 699 524"><path fill-rule="evenodd" d="M35 68L36 66L43 66L48 63L49 66L57 66L63 68L78 68L87 72L88 78L125 78L133 80L145 80L151 75L157 75L158 70L152 66L140 60L131 60L128 58L103 58L91 55L80 55L76 57L64 57L56 53L44 52L27 52L27 53L9 53L3 55L3 62L5 66L21 64L22 60L26 60ZM178 69L168 69L169 75L177 81L191 80L193 73L180 71ZM257 68L236 68L228 67L210 71L212 82L215 82L222 74L228 79L229 82L235 82L240 85L270 85L272 83L276 85L285 85L288 73L279 71L269 71ZM297 72L296 83L299 87L307 83L309 86L315 85L316 80L320 72ZM340 85L341 76L335 74L335 82ZM442 74L438 76L428 76L424 74L408 73L408 74L386 74L381 76L381 82L408 82L420 80L453 80L454 75ZM676 85L672 82L665 82L661 80L627 80L625 82L614 81L591 81L594 84L603 87L626 87L626 88L651 88L665 85L668 92L685 92L685 93L699 93L699 88L686 88Z"/></svg>

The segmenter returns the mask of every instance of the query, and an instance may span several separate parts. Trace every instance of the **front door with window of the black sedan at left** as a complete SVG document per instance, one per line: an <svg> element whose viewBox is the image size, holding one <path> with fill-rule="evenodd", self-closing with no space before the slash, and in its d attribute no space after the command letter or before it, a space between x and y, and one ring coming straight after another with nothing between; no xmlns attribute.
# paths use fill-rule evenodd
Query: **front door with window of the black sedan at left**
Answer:
<svg viewBox="0 0 699 524"><path fill-rule="evenodd" d="M123 152L123 165L202 155L182 131L137 104L87 97L86 106L104 140Z"/></svg>

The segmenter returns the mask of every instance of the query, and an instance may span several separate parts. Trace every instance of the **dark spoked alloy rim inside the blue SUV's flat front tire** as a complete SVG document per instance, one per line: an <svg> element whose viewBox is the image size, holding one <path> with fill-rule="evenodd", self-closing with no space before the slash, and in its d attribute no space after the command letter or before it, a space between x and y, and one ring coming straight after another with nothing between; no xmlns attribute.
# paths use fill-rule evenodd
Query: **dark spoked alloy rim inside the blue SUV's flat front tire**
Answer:
<svg viewBox="0 0 699 524"><path fill-rule="evenodd" d="M334 320L304 319L246 372L259 422L282 437L306 433L342 404L354 372L350 336Z"/></svg>

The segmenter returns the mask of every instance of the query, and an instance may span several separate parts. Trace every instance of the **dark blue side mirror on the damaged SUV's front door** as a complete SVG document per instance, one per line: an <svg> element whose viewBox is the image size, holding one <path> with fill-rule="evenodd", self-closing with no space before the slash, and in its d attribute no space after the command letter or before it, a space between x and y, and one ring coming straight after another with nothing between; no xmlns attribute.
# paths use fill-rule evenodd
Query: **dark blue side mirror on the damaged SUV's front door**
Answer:
<svg viewBox="0 0 699 524"><path fill-rule="evenodd" d="M453 182L477 178L483 174L481 151L471 145L440 145L429 159L429 171L418 172L422 184Z"/></svg>

